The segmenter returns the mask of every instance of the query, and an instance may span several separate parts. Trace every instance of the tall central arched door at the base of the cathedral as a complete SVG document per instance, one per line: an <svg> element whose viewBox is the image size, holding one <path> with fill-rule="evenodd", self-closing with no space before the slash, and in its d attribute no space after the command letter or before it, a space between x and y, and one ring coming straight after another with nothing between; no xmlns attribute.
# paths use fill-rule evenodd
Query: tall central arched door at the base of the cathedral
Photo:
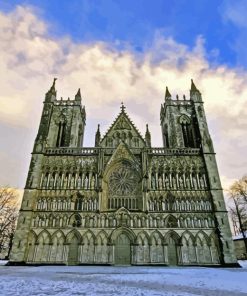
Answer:
<svg viewBox="0 0 247 296"><path fill-rule="evenodd" d="M131 263L131 250L129 237L121 233L115 242L115 264L129 265Z"/></svg>

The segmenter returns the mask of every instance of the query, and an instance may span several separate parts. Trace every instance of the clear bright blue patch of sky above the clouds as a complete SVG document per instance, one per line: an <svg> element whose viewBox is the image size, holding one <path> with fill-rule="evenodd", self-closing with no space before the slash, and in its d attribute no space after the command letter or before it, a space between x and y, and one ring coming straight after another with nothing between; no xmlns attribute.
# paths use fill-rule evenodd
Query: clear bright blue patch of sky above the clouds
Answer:
<svg viewBox="0 0 247 296"><path fill-rule="evenodd" d="M164 37L172 36L190 48L196 38L202 36L210 62L247 67L246 56L237 44L245 30L226 15L229 7L238 9L240 6L241 11L241 2L3 0L0 9L6 12L16 5L31 5L50 24L50 36L67 35L75 42L111 42L118 48L124 48L127 43L136 52L143 52L151 46L157 32Z"/></svg>

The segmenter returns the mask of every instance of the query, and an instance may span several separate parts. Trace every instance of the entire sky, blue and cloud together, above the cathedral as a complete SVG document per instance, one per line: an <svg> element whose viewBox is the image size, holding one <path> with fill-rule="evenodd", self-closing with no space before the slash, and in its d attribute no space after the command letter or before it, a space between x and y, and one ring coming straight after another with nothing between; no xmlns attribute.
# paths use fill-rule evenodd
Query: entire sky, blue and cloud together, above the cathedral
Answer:
<svg viewBox="0 0 247 296"><path fill-rule="evenodd" d="M161 145L167 85L205 102L223 186L247 173L247 1L0 1L0 185L22 188L42 102L80 87L84 146L104 133L124 101L153 146Z"/></svg>

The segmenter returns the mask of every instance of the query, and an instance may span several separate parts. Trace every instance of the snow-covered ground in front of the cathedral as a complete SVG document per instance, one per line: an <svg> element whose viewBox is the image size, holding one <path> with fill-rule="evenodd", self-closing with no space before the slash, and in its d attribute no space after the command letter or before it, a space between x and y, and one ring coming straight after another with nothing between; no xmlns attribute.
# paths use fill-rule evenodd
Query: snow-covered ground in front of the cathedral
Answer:
<svg viewBox="0 0 247 296"><path fill-rule="evenodd" d="M3 262L2 262L3 263ZM244 268L0 266L0 295L241 296Z"/></svg>

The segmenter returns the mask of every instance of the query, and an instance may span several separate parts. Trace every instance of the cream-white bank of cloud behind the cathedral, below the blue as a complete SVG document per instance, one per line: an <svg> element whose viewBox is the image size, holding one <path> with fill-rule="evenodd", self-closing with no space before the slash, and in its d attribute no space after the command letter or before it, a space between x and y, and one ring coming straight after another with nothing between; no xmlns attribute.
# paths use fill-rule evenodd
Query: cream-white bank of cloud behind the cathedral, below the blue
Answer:
<svg viewBox="0 0 247 296"><path fill-rule="evenodd" d="M204 97L220 172L227 179L240 177L246 172L247 73L211 67L203 43L198 36L190 50L157 33L152 48L137 56L130 48L118 51L102 42L79 44L68 37L49 37L48 25L28 7L0 13L1 149L19 172L12 177L10 170L1 170L5 176L0 182L9 178L11 185L23 186L42 101L53 77L59 79L58 96L73 97L81 87L88 118L86 145L93 145L96 124L103 123L105 131L124 101L141 133L145 123L150 124L154 146L161 145L159 108L165 86L173 95L188 96L193 77ZM14 141L21 147L17 149ZM10 166L7 157L1 162L3 168Z"/></svg>

